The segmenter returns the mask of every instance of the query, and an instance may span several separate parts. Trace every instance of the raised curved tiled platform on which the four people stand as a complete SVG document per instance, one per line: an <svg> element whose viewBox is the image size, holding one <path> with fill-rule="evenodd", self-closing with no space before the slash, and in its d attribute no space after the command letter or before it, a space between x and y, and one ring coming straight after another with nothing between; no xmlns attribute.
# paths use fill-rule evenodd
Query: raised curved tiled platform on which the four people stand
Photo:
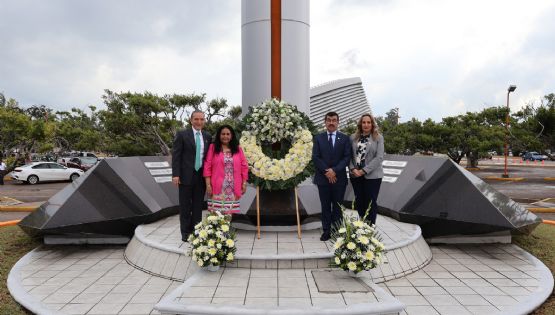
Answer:
<svg viewBox="0 0 555 315"><path fill-rule="evenodd" d="M424 267L432 252L421 235L420 227L379 216L377 230L383 237L386 263L370 272L375 283L396 279ZM236 260L228 268L316 269L329 267L333 257L331 242L319 240L320 230L296 232L263 232L256 238L254 231L237 231ZM137 227L129 242L127 261L150 274L183 281L191 264L187 255L189 244L181 241L179 217Z"/></svg>

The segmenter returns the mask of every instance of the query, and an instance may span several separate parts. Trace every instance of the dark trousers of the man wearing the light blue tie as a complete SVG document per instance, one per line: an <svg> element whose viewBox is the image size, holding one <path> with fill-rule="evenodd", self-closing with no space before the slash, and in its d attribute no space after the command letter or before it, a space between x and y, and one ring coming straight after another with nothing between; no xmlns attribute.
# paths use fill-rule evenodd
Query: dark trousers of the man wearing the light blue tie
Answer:
<svg viewBox="0 0 555 315"><path fill-rule="evenodd" d="M179 221L181 237L187 239L195 225L202 220L202 203L206 193L206 184L202 176L202 168L193 171L191 185L179 185Z"/></svg>

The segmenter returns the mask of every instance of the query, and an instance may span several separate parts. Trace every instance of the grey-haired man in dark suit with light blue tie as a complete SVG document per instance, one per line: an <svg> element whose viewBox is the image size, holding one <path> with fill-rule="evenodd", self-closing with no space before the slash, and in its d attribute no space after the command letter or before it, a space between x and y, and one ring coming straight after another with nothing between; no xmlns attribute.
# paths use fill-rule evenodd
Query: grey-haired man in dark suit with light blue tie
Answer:
<svg viewBox="0 0 555 315"><path fill-rule="evenodd" d="M179 221L181 240L186 242L194 226L202 219L206 186L202 176L204 157L212 142L204 130L204 113L191 114L191 127L175 136L172 153L172 182L179 187Z"/></svg>

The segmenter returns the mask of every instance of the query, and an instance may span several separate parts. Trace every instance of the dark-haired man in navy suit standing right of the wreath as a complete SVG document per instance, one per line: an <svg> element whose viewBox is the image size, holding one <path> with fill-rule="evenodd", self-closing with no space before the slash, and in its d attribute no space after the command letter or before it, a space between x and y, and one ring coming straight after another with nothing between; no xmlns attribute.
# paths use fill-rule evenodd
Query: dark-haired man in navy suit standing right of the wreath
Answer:
<svg viewBox="0 0 555 315"><path fill-rule="evenodd" d="M314 184L318 186L322 205L321 241L330 239L331 227L341 218L339 203L343 202L347 188L346 167L351 159L351 139L337 131L339 115L329 112L324 117L326 132L314 137L312 160L316 167Z"/></svg>

